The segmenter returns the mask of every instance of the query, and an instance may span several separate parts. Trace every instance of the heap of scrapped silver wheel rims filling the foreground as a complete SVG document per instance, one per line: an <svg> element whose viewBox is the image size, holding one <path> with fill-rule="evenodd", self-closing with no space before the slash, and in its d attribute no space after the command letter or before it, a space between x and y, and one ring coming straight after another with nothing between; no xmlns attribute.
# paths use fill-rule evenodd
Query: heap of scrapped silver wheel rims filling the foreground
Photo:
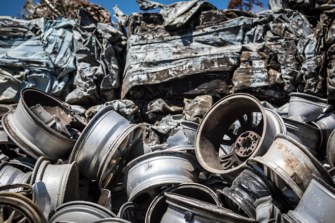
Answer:
<svg viewBox="0 0 335 223"><path fill-rule="evenodd" d="M335 115L291 93L279 115L249 94L181 121L167 143L106 106L86 123L24 88L1 105L0 218L5 222L333 222Z"/></svg>

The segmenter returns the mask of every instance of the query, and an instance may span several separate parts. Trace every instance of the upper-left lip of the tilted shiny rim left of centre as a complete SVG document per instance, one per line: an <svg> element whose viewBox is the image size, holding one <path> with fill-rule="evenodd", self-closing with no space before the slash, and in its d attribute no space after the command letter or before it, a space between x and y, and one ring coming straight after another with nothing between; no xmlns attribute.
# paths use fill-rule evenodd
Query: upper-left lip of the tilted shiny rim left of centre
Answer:
<svg viewBox="0 0 335 223"><path fill-rule="evenodd" d="M74 144L74 147L72 149L71 155L68 158L68 162L71 163L75 160L77 160L78 155L80 154L83 145L85 144L87 140L87 136L92 130L92 127L94 126L95 122L100 119L101 116L103 116L106 112L114 111L114 107L111 105L106 106L103 108L100 112L98 112L96 115L93 116L93 118L89 121L89 123L86 125L84 130L81 132L79 138L77 139L76 143Z"/></svg>

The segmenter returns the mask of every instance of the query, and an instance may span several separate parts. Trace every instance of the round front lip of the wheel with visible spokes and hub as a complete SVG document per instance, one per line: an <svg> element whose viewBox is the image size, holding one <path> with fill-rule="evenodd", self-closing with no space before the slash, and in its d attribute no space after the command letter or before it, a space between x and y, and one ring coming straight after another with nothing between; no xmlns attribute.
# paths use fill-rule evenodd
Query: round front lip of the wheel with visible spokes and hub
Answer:
<svg viewBox="0 0 335 223"><path fill-rule="evenodd" d="M249 100L251 100L252 102L254 102L256 105L258 105L261 113L262 113L262 116L263 116L263 121L264 121L264 124L263 124L263 134L265 134L266 130L267 130L267 124L268 124L268 121L267 121L267 116L266 116L266 112L265 112L265 109L263 108L263 105L262 103L254 96L250 95L250 94L245 94L245 93L236 93L236 94L232 94L232 95L228 95L227 97L224 97L223 99L219 100L218 102L216 102L206 113L205 115L203 116L200 124L199 124L199 128L198 128L198 131L197 131L197 134L196 134L196 141L195 141L195 150L196 150L196 156L199 160L199 163L201 164L201 166L203 168L205 168L207 171L209 172L212 172L212 173L219 173L219 174L224 174L224 173L229 173L229 172L233 172L234 170L236 169L239 169L241 168L243 165L246 164L246 161L243 162L241 165L238 165L237 167L233 167L231 169L228 169L228 170L219 170L219 169L214 169L212 167L209 167L205 162L202 161L201 158L201 154L200 154L200 149L201 149L201 146L200 146L200 132L202 131L202 128L203 128L203 123L207 121L207 118L208 118L208 115L213 111L215 110L219 105L222 105L224 103L227 103L229 102L229 100L234 100L234 98L239 98L239 97L244 97L244 98L247 98ZM257 145L257 148L255 149L255 151L251 154L251 156L249 157L252 158L252 157L256 157L258 156L258 149L261 147L262 143L264 141L264 136L262 136L260 142L258 143Z"/></svg>

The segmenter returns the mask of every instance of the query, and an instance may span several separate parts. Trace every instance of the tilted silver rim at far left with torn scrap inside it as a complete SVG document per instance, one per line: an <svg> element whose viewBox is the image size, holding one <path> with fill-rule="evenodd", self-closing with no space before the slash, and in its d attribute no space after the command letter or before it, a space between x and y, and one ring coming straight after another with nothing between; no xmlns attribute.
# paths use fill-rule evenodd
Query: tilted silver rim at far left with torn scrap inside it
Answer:
<svg viewBox="0 0 335 223"><path fill-rule="evenodd" d="M71 119L71 124L69 123L71 127L80 132L84 129L86 123L75 115L70 106L52 95L33 88L25 88L21 91L21 98L16 110L2 117L3 129L10 139L34 159L44 156L52 162L56 162L58 159L66 160L76 140L69 139L50 128L43 122L47 118L41 113L38 112L42 119L37 117L30 110L36 105L34 100L40 100L41 106L58 106L66 113L67 120ZM49 118L52 117L50 114L48 115ZM61 118L60 115L59 118Z"/></svg>

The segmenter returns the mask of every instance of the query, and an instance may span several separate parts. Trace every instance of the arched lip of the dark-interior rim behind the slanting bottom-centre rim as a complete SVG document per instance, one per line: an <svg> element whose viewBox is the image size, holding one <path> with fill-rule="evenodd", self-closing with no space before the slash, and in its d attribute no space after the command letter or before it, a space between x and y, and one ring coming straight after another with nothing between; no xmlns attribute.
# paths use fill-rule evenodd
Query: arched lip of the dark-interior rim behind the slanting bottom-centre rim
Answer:
<svg viewBox="0 0 335 223"><path fill-rule="evenodd" d="M146 212L145 223L154 223L153 221L150 220L150 218L151 218L152 212L156 208L156 205L158 204L158 202L163 199L164 193L165 192L174 192L175 190L178 190L180 188L197 188L197 189L201 188L202 190L205 190L206 192L208 192L208 195L212 196L213 200L215 200L215 203L218 207L221 207L221 203L219 201L219 198L216 196L216 194L210 188L208 188L208 187L206 187L202 184L197 184L197 183L182 183L182 184L178 184L178 185L172 186L170 188L167 188L165 191L161 192L159 195L157 195L155 197L155 199L151 202L151 204L149 205L149 208ZM158 219L158 220L160 221L161 219ZM155 220L155 221L157 221L157 220Z"/></svg>

